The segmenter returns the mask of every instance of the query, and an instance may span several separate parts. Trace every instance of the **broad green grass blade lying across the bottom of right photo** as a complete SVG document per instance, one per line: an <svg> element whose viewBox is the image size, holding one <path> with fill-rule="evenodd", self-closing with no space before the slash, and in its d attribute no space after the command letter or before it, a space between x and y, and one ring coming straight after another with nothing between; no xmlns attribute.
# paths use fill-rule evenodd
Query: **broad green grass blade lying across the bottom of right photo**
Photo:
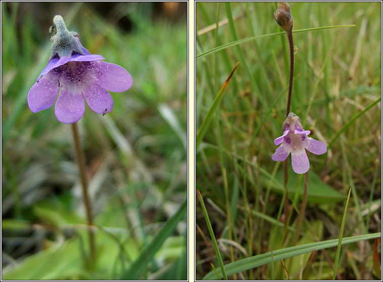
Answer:
<svg viewBox="0 0 383 282"><path fill-rule="evenodd" d="M342 245L355 243L362 240L370 240L374 238L381 237L381 232L364 234L359 236L347 237L342 240ZM273 259L274 261L278 261L280 259L286 259L306 253L310 253L313 251L328 249L331 247L335 247L338 245L339 239L332 239L327 241L320 241L315 243L304 244L295 247L284 248L280 250L273 251ZM225 272L227 275L231 275L233 273L238 273L242 271L246 271L248 269L252 269L267 263L271 262L271 252L267 252L264 254L252 256L249 258L237 260L235 262L231 262L225 265ZM221 276L222 272L220 268L217 268L218 274ZM215 273L210 271L203 278L204 280L214 279Z"/></svg>

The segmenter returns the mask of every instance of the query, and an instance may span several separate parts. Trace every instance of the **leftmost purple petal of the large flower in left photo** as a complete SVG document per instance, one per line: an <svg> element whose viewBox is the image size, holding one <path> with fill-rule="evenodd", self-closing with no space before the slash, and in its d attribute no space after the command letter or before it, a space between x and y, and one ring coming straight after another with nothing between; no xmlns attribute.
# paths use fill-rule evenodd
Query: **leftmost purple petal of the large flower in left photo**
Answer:
<svg viewBox="0 0 383 282"><path fill-rule="evenodd" d="M28 106L33 113L51 108L59 93L59 83L53 74L47 74L33 84L28 92Z"/></svg>

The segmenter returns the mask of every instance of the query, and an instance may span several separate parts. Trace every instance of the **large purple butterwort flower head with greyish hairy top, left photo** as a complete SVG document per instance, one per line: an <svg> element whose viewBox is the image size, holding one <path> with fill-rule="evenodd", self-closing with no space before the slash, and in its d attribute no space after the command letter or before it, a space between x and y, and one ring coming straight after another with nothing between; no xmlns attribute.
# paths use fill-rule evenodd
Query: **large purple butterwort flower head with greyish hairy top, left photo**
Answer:
<svg viewBox="0 0 383 282"><path fill-rule="evenodd" d="M133 84L132 77L124 68L101 61L105 60L102 56L91 55L81 45L79 35L68 31L61 16L55 16L53 22L51 56L29 90L29 108L37 113L56 102L55 115L66 124L84 115L84 99L94 112L110 113L113 99L106 90L126 91Z"/></svg>

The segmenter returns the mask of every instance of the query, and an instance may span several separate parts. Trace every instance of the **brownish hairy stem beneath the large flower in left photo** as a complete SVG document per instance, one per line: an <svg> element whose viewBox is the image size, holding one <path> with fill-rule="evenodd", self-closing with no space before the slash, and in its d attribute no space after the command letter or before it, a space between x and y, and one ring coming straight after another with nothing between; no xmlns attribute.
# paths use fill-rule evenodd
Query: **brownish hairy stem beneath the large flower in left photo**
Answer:
<svg viewBox="0 0 383 282"><path fill-rule="evenodd" d="M78 160L78 167L80 169L82 197L83 197L83 201L85 205L86 217L87 217L87 223L88 223L89 250L90 250L90 257L88 262L90 262L91 264L91 262L94 259L94 234L91 228L93 225L93 217L91 213L91 205L90 205L89 196L88 196L88 182L86 180L86 173L85 173L84 152L81 149L80 137L78 134L78 128L77 128L76 122L72 123L72 131L73 131L74 147L76 149L76 155Z"/></svg>

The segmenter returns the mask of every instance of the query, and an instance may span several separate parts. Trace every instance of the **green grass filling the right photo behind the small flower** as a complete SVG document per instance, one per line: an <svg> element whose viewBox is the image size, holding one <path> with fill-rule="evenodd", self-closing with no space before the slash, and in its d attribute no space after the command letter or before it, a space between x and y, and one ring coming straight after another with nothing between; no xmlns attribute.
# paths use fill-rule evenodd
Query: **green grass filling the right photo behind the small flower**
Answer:
<svg viewBox="0 0 383 282"><path fill-rule="evenodd" d="M301 117L306 130L311 130L309 136L328 148L324 155L310 155L308 206L301 230L305 238L298 245L336 242L326 251L320 250L314 261L309 261L309 253L285 260L291 279L298 279L306 265L311 265L304 271L308 279L332 277L334 246L350 187L352 199L342 243L346 237L380 231L376 218L380 208L369 212L374 201L381 200L381 178L376 174L381 169L381 55L374 51L381 44L380 5L291 3L297 49L291 111ZM283 165L277 167L271 155L277 148L273 140L281 135L284 121L289 51L287 38L273 18L274 11L273 3L196 5L197 132L206 117L212 120L197 147L196 188L204 197L216 239L231 236L234 241L230 244L233 254L228 245L219 245L225 268L239 266L247 258L236 245L245 248L249 258L273 248L273 267L271 256L267 256L265 264L235 272L226 269L229 279L234 273L237 279L286 278L276 250L291 247L289 240L294 237L298 199L303 192L303 180L291 171L289 198L295 204L286 231L288 241L283 246L284 228L279 224ZM218 24L223 20L226 23ZM326 28L335 26L343 27ZM212 113L217 87L238 61L225 95ZM291 167L290 157L288 160ZM218 263L211 242L206 242L209 231L198 204L196 223L201 228L196 232L196 278L215 279L210 263ZM344 245L337 259L339 277L376 279L372 244L372 240L363 242L361 251L355 243ZM348 254L358 254L363 263L355 263ZM211 276L205 276L207 273Z"/></svg>

